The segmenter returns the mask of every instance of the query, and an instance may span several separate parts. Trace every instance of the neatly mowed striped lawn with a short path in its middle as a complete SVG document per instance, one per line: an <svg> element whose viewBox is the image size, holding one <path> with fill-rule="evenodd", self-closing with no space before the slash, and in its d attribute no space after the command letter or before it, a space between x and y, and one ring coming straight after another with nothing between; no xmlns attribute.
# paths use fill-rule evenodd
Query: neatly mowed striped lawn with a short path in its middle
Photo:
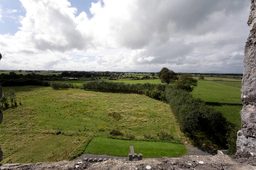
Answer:
<svg viewBox="0 0 256 170"><path fill-rule="evenodd" d="M120 140L107 137L93 138L84 153L128 157L130 145L133 145L134 152L137 154L141 153L143 158L178 157L187 153L183 144Z"/></svg>

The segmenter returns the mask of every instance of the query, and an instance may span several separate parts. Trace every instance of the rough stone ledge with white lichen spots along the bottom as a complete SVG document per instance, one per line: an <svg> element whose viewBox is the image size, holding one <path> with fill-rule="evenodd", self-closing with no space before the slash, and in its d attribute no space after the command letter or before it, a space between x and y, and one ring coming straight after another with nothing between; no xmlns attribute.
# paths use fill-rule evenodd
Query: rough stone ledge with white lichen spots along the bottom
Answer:
<svg viewBox="0 0 256 170"><path fill-rule="evenodd" d="M45 162L36 164L4 164L1 170L119 170L119 169L196 169L196 170L252 170L256 169L256 157L239 158L228 155L215 156L182 156L179 158L142 159L141 161L106 160L97 163L88 163L81 160Z"/></svg>

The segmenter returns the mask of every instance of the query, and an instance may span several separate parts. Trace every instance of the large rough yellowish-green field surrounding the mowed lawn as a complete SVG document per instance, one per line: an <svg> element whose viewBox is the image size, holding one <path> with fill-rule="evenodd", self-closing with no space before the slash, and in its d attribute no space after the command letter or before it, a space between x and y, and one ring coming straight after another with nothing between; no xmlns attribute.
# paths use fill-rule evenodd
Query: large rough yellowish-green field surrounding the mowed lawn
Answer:
<svg viewBox="0 0 256 170"><path fill-rule="evenodd" d="M183 137L169 105L144 95L3 87L4 92L9 89L22 105L3 112L1 163L71 159L83 153L92 136L107 136L116 128L135 139L157 136L163 129L174 138ZM57 130L62 133L56 135Z"/></svg>

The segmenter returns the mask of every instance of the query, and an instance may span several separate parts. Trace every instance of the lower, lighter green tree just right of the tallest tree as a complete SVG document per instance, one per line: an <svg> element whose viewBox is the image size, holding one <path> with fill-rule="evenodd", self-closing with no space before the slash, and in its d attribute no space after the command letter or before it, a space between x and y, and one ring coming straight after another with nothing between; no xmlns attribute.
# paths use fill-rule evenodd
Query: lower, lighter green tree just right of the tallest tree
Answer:
<svg viewBox="0 0 256 170"><path fill-rule="evenodd" d="M193 79L191 74L184 74L177 81L175 88L192 92L195 86L197 86L197 80Z"/></svg>

